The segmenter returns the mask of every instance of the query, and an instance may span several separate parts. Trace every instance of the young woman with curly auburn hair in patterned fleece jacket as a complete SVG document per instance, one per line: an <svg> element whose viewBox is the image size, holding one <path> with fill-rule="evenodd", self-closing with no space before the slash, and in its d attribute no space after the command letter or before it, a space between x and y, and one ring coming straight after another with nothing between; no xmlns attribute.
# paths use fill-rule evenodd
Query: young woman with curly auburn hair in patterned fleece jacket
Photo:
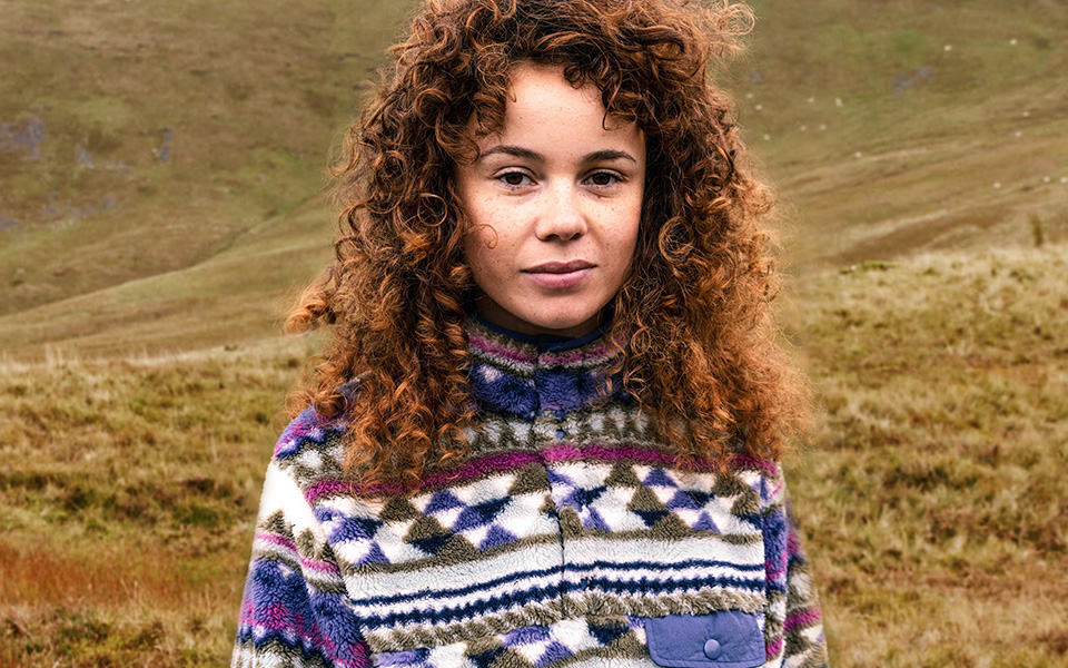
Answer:
<svg viewBox="0 0 1068 668"><path fill-rule="evenodd" d="M820 666L802 382L710 59L748 10L429 0L338 170L333 344L235 666Z"/></svg>

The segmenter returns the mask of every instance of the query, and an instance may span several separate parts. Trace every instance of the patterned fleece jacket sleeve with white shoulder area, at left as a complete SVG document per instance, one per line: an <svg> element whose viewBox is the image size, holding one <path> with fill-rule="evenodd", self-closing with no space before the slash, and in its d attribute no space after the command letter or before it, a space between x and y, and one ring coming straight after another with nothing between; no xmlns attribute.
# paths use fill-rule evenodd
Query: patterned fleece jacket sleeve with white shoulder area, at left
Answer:
<svg viewBox="0 0 1068 668"><path fill-rule="evenodd" d="M325 532L277 460L264 482L230 665L370 665Z"/></svg>

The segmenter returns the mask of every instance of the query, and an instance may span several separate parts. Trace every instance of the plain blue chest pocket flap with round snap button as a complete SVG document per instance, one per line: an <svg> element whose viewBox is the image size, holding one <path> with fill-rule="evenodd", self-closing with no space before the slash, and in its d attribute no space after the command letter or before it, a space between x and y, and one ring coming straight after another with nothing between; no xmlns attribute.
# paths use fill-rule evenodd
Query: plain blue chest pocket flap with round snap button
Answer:
<svg viewBox="0 0 1068 668"><path fill-rule="evenodd" d="M668 668L756 668L765 659L755 615L723 610L645 620L649 654Z"/></svg>

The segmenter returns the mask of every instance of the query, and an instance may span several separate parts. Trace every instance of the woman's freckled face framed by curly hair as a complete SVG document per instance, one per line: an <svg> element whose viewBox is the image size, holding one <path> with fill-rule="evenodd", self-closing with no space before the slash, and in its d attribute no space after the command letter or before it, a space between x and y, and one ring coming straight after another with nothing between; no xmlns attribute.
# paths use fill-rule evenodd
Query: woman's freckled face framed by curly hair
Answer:
<svg viewBox="0 0 1068 668"><path fill-rule="evenodd" d="M644 135L606 117L595 87L521 65L504 127L478 149L456 185L479 314L526 334L592 332L634 256Z"/></svg>

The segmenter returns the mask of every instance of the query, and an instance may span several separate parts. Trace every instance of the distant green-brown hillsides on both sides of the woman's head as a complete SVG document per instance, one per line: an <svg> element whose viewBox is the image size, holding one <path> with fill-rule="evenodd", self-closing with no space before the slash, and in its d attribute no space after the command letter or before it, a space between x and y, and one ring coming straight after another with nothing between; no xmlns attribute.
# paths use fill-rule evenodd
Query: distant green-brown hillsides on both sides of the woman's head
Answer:
<svg viewBox="0 0 1068 668"><path fill-rule="evenodd" d="M1068 238L1062 0L753 4L724 80L797 273ZM0 347L274 335L328 256L327 155L409 9L6 1Z"/></svg>

